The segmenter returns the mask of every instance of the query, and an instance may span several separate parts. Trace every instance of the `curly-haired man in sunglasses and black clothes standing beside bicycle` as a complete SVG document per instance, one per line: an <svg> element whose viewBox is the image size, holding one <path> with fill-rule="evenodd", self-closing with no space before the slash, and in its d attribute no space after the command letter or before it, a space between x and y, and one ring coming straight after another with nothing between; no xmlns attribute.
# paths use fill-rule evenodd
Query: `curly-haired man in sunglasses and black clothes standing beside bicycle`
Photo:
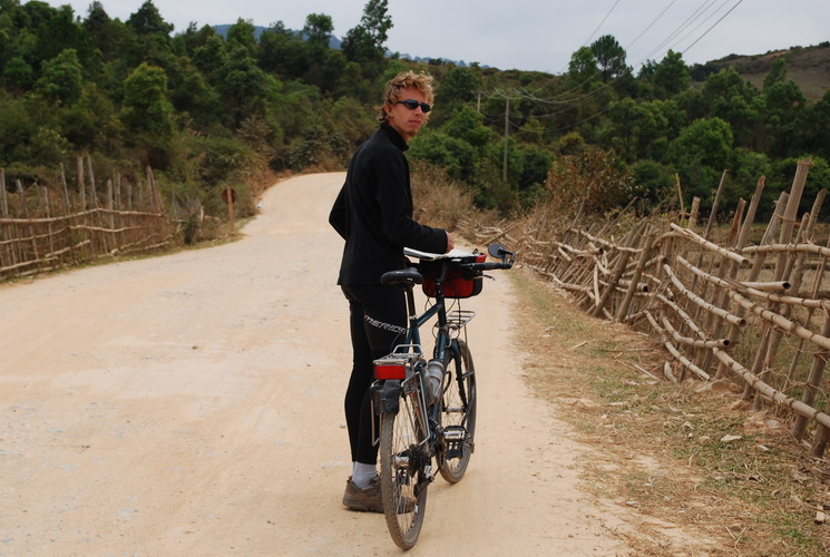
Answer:
<svg viewBox="0 0 830 557"><path fill-rule="evenodd" d="M369 389L372 362L387 355L407 333L403 292L380 277L406 265L403 247L430 253L452 250L450 234L412 219L407 143L427 123L432 106L432 78L406 71L391 79L378 107L378 131L354 152L345 183L329 223L345 240L340 284L349 301L352 373L345 392L345 419L352 476L343 505L352 510L383 512L372 444Z"/></svg>

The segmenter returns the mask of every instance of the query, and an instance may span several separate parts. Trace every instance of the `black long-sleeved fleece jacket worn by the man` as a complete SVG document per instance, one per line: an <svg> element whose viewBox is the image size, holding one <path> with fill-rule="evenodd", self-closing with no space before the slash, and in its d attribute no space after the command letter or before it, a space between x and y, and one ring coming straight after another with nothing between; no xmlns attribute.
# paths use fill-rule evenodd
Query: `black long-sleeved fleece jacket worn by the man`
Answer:
<svg viewBox="0 0 830 557"><path fill-rule="evenodd" d="M447 251L447 233L412 219L407 141L387 123L354 152L329 223L345 240L338 284L380 284L402 268L403 247Z"/></svg>

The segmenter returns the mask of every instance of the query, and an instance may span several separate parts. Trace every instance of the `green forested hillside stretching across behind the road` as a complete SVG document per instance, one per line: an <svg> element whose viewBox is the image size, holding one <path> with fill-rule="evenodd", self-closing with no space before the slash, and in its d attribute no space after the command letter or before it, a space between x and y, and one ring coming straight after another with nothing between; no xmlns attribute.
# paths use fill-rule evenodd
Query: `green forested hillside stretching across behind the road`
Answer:
<svg viewBox="0 0 830 557"><path fill-rule="evenodd" d="M814 162L804 198L830 184L828 84L808 97L787 57L752 79L672 51L633 70L605 36L564 75L416 62L388 56L387 7L369 0L336 49L323 13L261 35L238 20L223 36L195 23L174 33L149 0L126 21L101 2L77 14L0 0L0 167L50 185L88 154L99 174L127 180L152 167L180 209L222 216L228 185L253 209L252 184L270 173L343 168L375 128L382 84L412 68L434 76L438 96L410 158L482 208L510 214L553 197L665 209L680 204L677 182L686 206L699 196L705 207L724 169L725 203L762 175L773 199L804 156ZM827 58L830 43L808 50Z"/></svg>

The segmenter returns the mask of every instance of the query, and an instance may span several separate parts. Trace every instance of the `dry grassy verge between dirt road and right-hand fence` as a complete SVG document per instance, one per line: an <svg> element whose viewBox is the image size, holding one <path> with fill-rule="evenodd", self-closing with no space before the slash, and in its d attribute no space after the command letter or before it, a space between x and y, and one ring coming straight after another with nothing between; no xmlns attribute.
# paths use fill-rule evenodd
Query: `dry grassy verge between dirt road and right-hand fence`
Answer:
<svg viewBox="0 0 830 557"><path fill-rule="evenodd" d="M642 536L625 536L637 554L678 555L654 520L699 537L683 555L830 554L830 466L785 418L751 411L736 387L665 380L653 339L583 313L529 270L510 275L525 379L595 449L587 489L642 519Z"/></svg>

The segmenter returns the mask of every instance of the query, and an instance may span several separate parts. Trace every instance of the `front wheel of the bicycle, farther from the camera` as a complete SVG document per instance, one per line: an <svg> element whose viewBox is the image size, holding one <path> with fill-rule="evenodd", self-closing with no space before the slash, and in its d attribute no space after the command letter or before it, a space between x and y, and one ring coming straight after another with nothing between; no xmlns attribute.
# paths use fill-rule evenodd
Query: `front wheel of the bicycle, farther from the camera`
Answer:
<svg viewBox="0 0 830 557"><path fill-rule="evenodd" d="M447 440L440 460L441 477L450 483L458 482L467 471L476 434L476 372L472 354L467 343L458 340L460 358L452 350L445 356L445 374L441 395L441 426L445 436L455 432L461 439Z"/></svg>

